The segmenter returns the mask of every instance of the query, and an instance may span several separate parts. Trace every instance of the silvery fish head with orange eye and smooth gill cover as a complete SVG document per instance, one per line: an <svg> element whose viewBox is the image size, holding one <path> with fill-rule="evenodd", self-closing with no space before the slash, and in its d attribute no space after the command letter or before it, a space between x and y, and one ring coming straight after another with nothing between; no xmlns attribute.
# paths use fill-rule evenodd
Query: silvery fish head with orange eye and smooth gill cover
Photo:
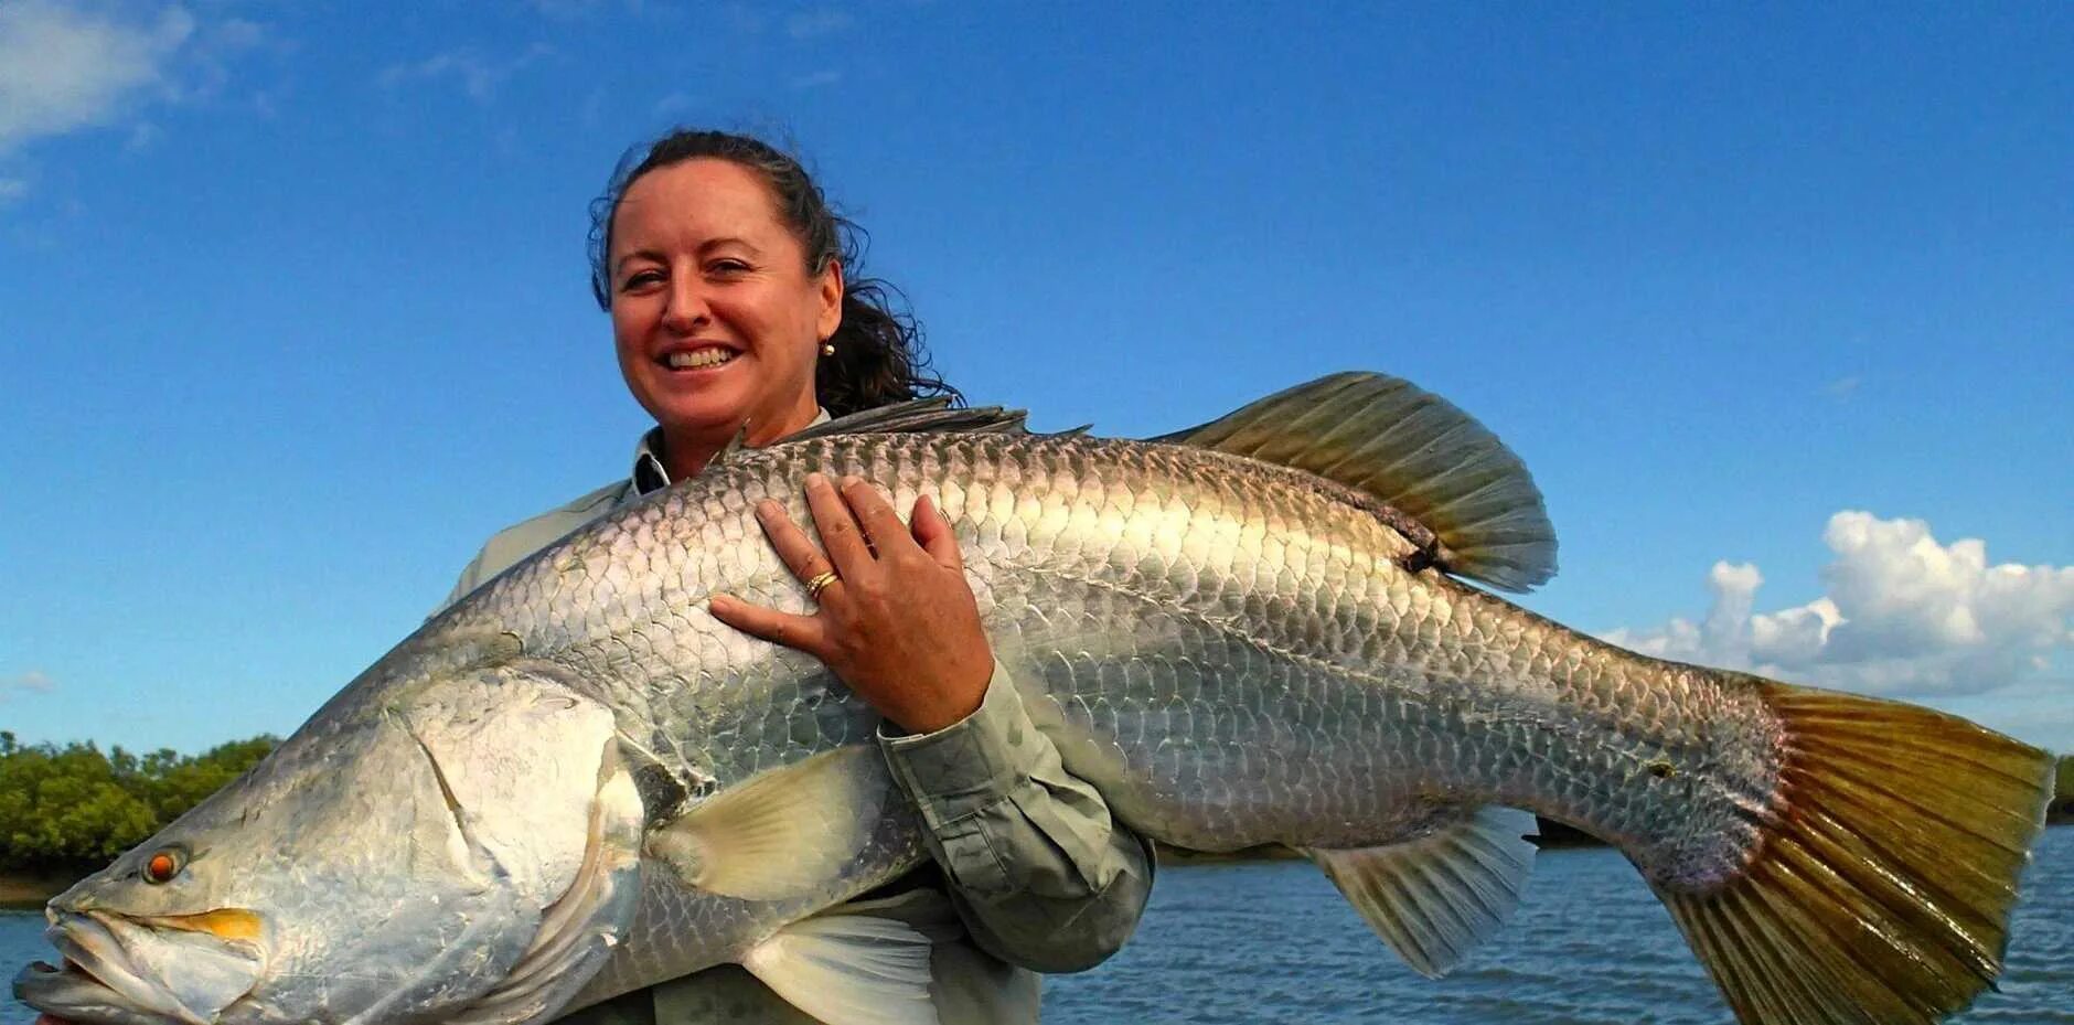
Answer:
<svg viewBox="0 0 2074 1025"><path fill-rule="evenodd" d="M639 892L612 714L518 672L313 720L48 907L71 1021L518 1021L610 954ZM535 1006L537 1004L537 1006Z"/></svg>

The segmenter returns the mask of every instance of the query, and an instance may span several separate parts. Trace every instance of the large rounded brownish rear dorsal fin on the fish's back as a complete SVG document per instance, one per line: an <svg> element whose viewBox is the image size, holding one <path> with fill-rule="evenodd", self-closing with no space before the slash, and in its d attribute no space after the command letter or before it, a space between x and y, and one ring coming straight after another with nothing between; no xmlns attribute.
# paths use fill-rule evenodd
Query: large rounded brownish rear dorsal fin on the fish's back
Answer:
<svg viewBox="0 0 2074 1025"><path fill-rule="evenodd" d="M1439 537L1439 564L1508 591L1555 575L1555 527L1520 459L1446 398L1383 373L1334 373L1155 442L1215 448L1340 481Z"/></svg>

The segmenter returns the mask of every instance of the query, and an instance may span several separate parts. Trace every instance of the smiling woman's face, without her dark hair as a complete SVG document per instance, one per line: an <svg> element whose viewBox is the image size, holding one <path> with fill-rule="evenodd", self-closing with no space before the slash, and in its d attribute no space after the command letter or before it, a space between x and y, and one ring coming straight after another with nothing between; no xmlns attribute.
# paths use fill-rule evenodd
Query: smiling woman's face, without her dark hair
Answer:
<svg viewBox="0 0 2074 1025"><path fill-rule="evenodd" d="M842 268L807 274L757 172L684 160L643 174L612 220L608 272L620 373L662 423L672 463L680 446L726 444L742 421L757 444L813 421Z"/></svg>

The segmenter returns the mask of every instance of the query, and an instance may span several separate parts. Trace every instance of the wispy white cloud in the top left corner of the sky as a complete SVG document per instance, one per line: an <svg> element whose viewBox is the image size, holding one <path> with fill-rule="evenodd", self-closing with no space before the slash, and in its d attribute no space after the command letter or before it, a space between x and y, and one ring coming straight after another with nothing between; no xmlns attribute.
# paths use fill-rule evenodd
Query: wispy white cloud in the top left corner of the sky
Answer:
<svg viewBox="0 0 2074 1025"><path fill-rule="evenodd" d="M174 52L195 35L180 6L145 15L77 4L0 4L0 154L29 139L116 120L166 83Z"/></svg>

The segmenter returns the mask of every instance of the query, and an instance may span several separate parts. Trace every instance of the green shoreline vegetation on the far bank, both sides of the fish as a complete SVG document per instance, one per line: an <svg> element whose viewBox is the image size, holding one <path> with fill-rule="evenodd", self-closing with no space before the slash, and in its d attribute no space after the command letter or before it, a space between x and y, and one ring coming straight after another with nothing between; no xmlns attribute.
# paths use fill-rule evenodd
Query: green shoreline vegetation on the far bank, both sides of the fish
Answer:
<svg viewBox="0 0 2074 1025"><path fill-rule="evenodd" d="M0 730L0 909L37 909L183 811L259 764L280 741L253 737L199 755L93 743L23 745ZM2047 826L2074 824L2074 755L2062 755ZM1599 847L1560 822L1541 822L1543 849ZM1300 857L1284 847L1222 855L1159 847L1164 865Z"/></svg>

